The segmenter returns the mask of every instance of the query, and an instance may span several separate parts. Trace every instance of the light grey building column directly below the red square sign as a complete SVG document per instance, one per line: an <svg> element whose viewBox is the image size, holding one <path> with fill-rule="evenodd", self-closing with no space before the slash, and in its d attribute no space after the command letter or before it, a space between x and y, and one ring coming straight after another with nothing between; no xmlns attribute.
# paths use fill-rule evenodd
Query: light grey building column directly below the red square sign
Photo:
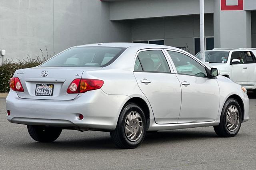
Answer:
<svg viewBox="0 0 256 170"><path fill-rule="evenodd" d="M220 0L214 3L214 47L250 48L252 46L250 11L221 10Z"/></svg>

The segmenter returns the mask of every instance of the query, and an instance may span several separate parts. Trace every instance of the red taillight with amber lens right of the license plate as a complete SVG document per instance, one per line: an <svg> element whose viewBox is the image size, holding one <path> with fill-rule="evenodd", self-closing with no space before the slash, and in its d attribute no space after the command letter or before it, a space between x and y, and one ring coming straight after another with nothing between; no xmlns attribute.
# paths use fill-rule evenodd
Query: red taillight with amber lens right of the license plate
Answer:
<svg viewBox="0 0 256 170"><path fill-rule="evenodd" d="M100 89L104 81L96 79L74 79L68 86L67 93L85 93L86 91Z"/></svg>

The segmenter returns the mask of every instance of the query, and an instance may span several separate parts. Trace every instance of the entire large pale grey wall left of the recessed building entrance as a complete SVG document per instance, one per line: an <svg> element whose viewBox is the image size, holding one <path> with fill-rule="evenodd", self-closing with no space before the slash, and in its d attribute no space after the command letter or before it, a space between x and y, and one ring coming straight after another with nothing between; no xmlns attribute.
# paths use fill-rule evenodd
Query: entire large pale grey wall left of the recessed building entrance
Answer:
<svg viewBox="0 0 256 170"><path fill-rule="evenodd" d="M99 0L0 0L0 49L5 59L58 53L97 42L130 42L130 22L111 22ZM0 63L2 59L0 59Z"/></svg>

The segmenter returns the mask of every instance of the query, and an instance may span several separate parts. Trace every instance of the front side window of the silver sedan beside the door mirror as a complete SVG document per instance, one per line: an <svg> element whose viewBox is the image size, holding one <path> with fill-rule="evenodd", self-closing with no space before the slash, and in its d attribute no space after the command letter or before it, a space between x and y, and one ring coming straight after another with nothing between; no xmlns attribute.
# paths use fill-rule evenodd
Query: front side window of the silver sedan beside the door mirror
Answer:
<svg viewBox="0 0 256 170"><path fill-rule="evenodd" d="M178 74L194 75L198 77L207 77L205 68L183 53L168 51Z"/></svg>

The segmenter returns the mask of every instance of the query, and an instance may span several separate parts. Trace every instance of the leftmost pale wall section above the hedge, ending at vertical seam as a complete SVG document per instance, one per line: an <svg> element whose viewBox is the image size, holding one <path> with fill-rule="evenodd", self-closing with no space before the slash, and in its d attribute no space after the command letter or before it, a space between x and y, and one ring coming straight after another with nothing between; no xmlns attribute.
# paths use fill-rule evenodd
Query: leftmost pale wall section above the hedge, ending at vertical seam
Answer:
<svg viewBox="0 0 256 170"><path fill-rule="evenodd" d="M0 0L0 49L6 50L5 59L35 57L45 45L53 53L52 32L52 0Z"/></svg>

